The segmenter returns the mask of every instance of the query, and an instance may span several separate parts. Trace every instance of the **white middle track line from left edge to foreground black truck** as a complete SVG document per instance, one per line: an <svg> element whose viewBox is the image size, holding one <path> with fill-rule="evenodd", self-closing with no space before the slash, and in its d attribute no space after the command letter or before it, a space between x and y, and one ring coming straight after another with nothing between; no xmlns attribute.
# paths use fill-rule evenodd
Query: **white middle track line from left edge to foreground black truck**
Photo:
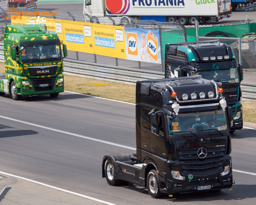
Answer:
<svg viewBox="0 0 256 205"><path fill-rule="evenodd" d="M110 144L110 145L114 145L114 146L117 146L117 147L126 148L126 149L129 149L129 150L136 150L136 148L125 146L125 145L122 145L122 144L108 142L108 141L105 141L105 140L99 140L99 139L96 139L96 138L92 138L92 137L88 137L88 136L84 136L84 135L80 135L80 134L76 134L76 133L72 133L72 132L66 132L66 131L63 131L63 130L57 130L57 129L54 129L54 128L49 128L49 127L46 127L46 126L42 126L42 125L38 125L38 124L33 124L33 123L30 123L30 122L24 122L24 121L21 121L21 120L16 120L16 119L9 118L9 117L2 116L2 115L0 115L0 118L4 118L4 119L7 119L7 120L12 120L12 121L15 121L15 122L21 122L21 123L32 125L32 126L35 126L35 127L40 127L40 128L44 128L44 129L47 129L47 130L52 130L52 131L55 131L55 132L69 134L69 135L80 137L80 138L84 138L84 139L87 139L87 140L93 140L93 141L96 141L96 142L102 142L102 143L105 143L105 144Z"/></svg>

